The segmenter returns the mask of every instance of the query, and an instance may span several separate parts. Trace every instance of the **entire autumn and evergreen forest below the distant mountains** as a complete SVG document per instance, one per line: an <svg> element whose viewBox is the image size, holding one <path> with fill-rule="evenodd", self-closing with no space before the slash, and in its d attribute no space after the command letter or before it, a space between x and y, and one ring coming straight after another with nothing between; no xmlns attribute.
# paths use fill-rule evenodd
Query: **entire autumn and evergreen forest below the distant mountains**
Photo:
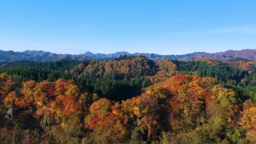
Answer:
<svg viewBox="0 0 256 144"><path fill-rule="evenodd" d="M3 144L256 143L256 62L0 63Z"/></svg>

